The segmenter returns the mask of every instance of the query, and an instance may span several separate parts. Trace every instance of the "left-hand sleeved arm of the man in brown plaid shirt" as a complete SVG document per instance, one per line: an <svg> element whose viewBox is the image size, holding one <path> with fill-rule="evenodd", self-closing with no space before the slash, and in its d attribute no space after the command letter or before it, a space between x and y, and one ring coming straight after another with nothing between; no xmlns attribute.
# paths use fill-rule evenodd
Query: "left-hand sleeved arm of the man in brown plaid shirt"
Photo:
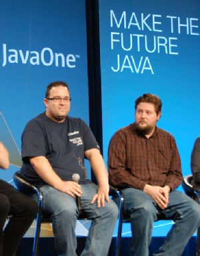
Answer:
<svg viewBox="0 0 200 256"><path fill-rule="evenodd" d="M134 187L143 190L146 182L135 178L126 167L126 137L116 132L111 138L108 153L109 183L113 186Z"/></svg>

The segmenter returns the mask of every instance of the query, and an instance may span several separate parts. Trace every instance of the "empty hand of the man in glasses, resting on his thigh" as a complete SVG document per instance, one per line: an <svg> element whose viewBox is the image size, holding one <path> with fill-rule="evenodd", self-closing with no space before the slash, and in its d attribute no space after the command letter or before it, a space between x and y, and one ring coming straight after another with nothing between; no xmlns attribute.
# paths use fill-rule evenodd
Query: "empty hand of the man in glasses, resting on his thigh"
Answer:
<svg viewBox="0 0 200 256"><path fill-rule="evenodd" d="M99 186L98 193L94 195L91 204L95 202L97 199L97 207L101 207L101 205L104 207L105 206L105 199L107 203L109 203L109 184L104 184Z"/></svg>

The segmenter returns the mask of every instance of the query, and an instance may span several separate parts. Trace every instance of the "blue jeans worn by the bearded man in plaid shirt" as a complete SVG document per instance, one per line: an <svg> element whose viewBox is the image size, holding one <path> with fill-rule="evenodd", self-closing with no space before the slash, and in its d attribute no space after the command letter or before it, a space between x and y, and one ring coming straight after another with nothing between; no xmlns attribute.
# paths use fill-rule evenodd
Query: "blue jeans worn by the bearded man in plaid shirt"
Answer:
<svg viewBox="0 0 200 256"><path fill-rule="evenodd" d="M133 255L149 255L149 245L153 231L153 222L157 211L175 221L175 225L167 234L165 243L154 253L157 256L181 256L187 241L199 227L200 206L180 191L173 190L169 194L167 209L161 210L155 201L142 190L125 188L125 211L131 218Z"/></svg>

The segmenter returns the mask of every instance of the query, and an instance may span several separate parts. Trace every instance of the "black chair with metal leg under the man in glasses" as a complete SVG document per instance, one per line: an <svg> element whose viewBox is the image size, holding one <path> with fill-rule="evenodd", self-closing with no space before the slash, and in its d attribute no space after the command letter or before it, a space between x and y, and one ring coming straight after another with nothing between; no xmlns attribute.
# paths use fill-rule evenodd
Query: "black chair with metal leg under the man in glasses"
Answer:
<svg viewBox="0 0 200 256"><path fill-rule="evenodd" d="M37 247L39 242L39 233L41 229L41 223L51 223L51 215L47 215L47 213L43 212L43 193L41 190L21 178L20 171L15 172L13 175L13 180L19 189L19 191L25 195L28 195L30 193L37 193L38 196L38 205L39 205L39 213L37 213L37 224L35 229L35 239L33 243L33 256L37 256ZM115 190L110 190L109 195L113 196L115 194ZM90 218L87 218L84 213L79 211L79 220L91 220Z"/></svg>

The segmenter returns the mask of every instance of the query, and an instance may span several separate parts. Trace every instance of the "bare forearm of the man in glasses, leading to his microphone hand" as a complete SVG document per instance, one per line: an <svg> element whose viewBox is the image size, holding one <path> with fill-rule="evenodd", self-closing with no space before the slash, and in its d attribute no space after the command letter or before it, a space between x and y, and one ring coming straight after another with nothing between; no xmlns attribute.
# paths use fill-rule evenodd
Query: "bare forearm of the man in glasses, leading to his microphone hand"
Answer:
<svg viewBox="0 0 200 256"><path fill-rule="evenodd" d="M59 189L62 182L61 178L55 173L51 164L45 158L45 156L30 157L30 162L37 174L45 181L47 184Z"/></svg>

